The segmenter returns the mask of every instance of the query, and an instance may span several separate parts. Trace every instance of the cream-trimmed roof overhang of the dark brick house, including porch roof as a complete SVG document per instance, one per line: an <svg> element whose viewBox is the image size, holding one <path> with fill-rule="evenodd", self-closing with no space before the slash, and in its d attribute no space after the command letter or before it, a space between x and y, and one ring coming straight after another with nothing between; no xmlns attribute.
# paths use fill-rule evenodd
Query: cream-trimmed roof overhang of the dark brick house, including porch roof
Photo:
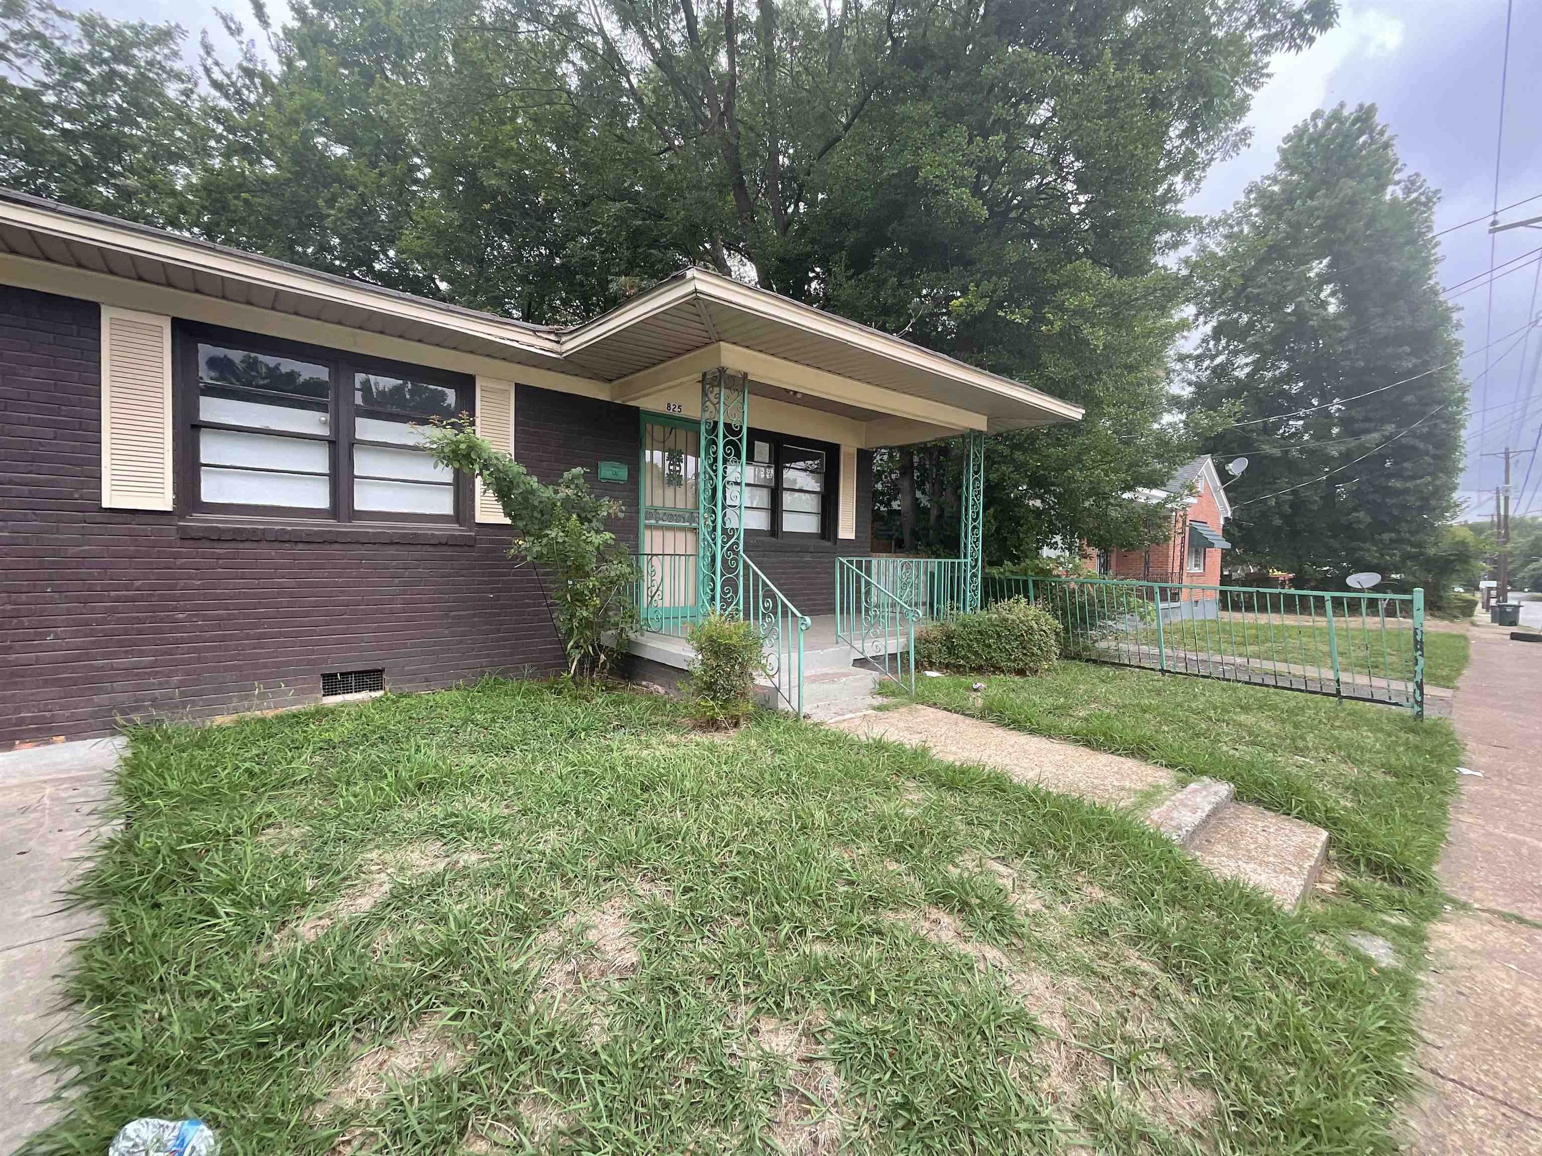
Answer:
<svg viewBox="0 0 1542 1156"><path fill-rule="evenodd" d="M725 365L760 390L870 422L868 444L1082 415L1021 382L699 268L555 328L0 190L0 282L96 301L116 293L114 304L134 308L109 288L133 282L143 294L137 308L179 316L171 304L204 299L230 308L225 324L236 327L250 310L287 314L529 367L530 384L631 404Z"/></svg>

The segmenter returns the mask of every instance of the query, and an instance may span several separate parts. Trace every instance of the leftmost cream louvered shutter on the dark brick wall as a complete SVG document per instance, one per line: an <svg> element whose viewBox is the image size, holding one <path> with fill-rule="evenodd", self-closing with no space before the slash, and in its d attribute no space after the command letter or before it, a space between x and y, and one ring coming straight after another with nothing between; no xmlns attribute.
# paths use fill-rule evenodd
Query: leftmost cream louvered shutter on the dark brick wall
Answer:
<svg viewBox="0 0 1542 1156"><path fill-rule="evenodd" d="M171 509L171 318L102 307L102 506Z"/></svg>

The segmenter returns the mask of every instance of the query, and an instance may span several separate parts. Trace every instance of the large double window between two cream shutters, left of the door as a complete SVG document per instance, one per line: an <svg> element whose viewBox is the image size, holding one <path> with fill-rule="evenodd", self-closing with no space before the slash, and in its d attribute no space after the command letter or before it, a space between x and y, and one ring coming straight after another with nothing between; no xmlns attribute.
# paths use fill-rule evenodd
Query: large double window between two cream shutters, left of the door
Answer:
<svg viewBox="0 0 1542 1156"><path fill-rule="evenodd" d="M214 331L185 334L177 365L193 510L455 523L470 504L415 428L469 410L469 382Z"/></svg>

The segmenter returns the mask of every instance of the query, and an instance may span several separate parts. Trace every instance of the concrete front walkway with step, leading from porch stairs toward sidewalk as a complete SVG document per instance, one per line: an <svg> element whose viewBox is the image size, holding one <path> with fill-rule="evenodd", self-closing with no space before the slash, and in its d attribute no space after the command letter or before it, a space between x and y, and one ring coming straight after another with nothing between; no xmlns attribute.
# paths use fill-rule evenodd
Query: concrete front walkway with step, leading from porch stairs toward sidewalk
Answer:
<svg viewBox="0 0 1542 1156"><path fill-rule="evenodd" d="M982 718L916 704L868 711L828 726L924 748L951 763L982 763L1045 791L1133 808L1214 874L1251 883L1286 911L1317 883L1328 854L1326 831L1238 803L1231 783L1200 780L1180 789L1178 777L1166 768Z"/></svg>

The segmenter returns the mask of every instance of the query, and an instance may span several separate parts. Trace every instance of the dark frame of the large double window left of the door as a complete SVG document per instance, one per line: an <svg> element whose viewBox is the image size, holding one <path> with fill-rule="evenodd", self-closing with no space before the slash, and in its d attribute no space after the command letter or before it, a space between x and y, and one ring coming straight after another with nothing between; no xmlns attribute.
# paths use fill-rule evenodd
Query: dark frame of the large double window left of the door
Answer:
<svg viewBox="0 0 1542 1156"><path fill-rule="evenodd" d="M251 425L233 425L230 422L207 422L199 418L199 344L219 344L273 358L290 358L305 361L327 368L332 393L328 398L328 428L325 436L285 430L262 430ZM179 516L239 519L245 523L304 523L308 526L362 526L389 527L410 526L413 529L470 529L475 512L475 496L470 478L455 472L452 486L453 506L449 515L409 513L392 510L356 510L353 507L353 450L356 445L375 445L370 438L355 435L355 375L372 373L378 376L410 378L426 385L439 385L455 391L455 413L475 415L476 379L464 373L433 368L430 365L415 365L412 362L373 358L345 350L328 348L325 345L310 345L288 341L287 338L270 338L262 333L233 330L221 325L205 325L196 322L174 322L171 328L171 388L173 408L176 413L174 452L179 464L176 469ZM298 506L245 506L233 502L205 502L202 499L202 465L200 430L219 428L236 433L256 433L304 441L321 441L328 449L327 482L330 507L322 512L313 507Z"/></svg>

